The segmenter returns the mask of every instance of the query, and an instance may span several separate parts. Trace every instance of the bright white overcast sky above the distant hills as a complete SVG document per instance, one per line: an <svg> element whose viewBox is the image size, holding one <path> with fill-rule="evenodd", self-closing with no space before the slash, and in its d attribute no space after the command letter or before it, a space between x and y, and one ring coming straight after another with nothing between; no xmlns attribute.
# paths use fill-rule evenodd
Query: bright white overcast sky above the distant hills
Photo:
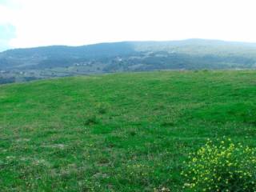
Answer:
<svg viewBox="0 0 256 192"><path fill-rule="evenodd" d="M186 38L256 42L255 0L0 0L0 51Z"/></svg>

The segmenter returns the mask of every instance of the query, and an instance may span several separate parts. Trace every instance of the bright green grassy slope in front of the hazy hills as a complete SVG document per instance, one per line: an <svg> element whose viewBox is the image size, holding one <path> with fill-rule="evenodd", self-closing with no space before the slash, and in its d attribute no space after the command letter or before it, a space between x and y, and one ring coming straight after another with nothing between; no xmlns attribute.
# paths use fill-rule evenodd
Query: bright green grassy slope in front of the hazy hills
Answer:
<svg viewBox="0 0 256 192"><path fill-rule="evenodd" d="M178 191L190 151L256 146L256 71L110 74L0 86L3 191Z"/></svg>

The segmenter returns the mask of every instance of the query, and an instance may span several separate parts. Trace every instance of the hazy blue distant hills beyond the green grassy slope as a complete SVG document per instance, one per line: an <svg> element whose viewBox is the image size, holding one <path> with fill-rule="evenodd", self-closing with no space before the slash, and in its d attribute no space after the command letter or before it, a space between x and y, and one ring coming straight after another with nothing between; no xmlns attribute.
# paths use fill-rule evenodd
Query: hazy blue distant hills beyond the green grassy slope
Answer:
<svg viewBox="0 0 256 192"><path fill-rule="evenodd" d="M188 39L44 46L0 53L0 82L143 70L254 69L256 44ZM9 82L9 81L7 81Z"/></svg>

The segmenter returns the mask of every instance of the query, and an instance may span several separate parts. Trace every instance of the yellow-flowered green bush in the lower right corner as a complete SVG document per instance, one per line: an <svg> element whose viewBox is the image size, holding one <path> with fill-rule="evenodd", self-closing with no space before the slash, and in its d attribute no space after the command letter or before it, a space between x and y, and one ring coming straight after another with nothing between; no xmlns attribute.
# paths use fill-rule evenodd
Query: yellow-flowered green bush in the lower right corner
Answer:
<svg viewBox="0 0 256 192"><path fill-rule="evenodd" d="M224 140L208 141L190 154L182 175L186 191L256 191L255 149Z"/></svg>

